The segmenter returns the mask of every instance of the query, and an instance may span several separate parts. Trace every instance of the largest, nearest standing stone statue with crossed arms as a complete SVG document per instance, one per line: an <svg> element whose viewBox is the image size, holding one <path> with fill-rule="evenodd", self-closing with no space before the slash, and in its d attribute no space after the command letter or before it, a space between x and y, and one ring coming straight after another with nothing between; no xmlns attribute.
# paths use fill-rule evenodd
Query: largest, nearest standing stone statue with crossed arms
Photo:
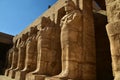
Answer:
<svg viewBox="0 0 120 80"><path fill-rule="evenodd" d="M61 19L62 71L45 80L80 80L82 56L82 13L72 0L65 1L66 15Z"/></svg>

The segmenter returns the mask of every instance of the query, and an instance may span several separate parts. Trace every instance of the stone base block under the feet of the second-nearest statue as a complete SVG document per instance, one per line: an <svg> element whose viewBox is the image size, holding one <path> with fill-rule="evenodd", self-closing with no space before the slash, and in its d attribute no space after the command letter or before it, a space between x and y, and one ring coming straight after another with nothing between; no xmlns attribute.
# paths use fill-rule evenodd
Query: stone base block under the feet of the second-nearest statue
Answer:
<svg viewBox="0 0 120 80"><path fill-rule="evenodd" d="M26 80L45 80L46 75L34 75L32 73L27 74Z"/></svg>

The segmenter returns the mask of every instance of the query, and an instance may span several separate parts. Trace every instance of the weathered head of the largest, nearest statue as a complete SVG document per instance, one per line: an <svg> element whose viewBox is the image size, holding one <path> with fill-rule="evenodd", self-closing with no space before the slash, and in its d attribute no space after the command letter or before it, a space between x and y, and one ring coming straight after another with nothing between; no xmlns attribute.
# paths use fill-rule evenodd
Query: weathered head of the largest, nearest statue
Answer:
<svg viewBox="0 0 120 80"><path fill-rule="evenodd" d="M71 12L74 9L75 9L74 2L72 0L66 0L65 1L65 11L66 12Z"/></svg>

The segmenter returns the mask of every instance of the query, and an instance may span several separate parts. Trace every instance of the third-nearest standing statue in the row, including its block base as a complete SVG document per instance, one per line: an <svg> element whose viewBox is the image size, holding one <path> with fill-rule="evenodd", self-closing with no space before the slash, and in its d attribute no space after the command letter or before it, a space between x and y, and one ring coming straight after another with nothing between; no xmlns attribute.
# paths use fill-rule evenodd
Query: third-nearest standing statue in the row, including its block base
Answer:
<svg viewBox="0 0 120 80"><path fill-rule="evenodd" d="M35 70L36 68L36 65L37 65L37 40L36 40L37 31L38 31L37 26L30 28L30 32L28 33L28 39L26 40L25 66L24 68L21 67L23 69L16 73L16 76L15 76L16 80L25 80L26 74ZM21 66L21 64L19 65Z"/></svg>

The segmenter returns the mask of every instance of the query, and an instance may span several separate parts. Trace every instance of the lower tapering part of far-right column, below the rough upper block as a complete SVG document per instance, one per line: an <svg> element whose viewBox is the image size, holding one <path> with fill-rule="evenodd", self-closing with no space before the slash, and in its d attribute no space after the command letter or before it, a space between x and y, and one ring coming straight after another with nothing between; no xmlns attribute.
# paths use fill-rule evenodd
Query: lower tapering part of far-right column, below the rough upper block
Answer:
<svg viewBox="0 0 120 80"><path fill-rule="evenodd" d="M112 67L113 67L113 74L115 79L120 78L120 21L113 22L107 24L107 33L110 40L110 46L111 46L111 57L112 57ZM119 76L118 76L119 75Z"/></svg>

